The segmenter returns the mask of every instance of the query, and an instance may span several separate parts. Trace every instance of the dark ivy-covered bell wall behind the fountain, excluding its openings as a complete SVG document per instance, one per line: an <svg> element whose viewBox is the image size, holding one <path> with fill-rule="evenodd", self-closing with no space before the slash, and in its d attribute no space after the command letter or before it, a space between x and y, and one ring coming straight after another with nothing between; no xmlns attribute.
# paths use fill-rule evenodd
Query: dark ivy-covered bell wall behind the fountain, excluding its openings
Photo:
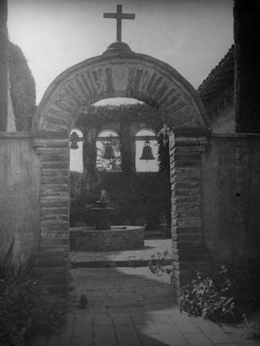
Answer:
<svg viewBox="0 0 260 346"><path fill-rule="evenodd" d="M119 133L121 172L98 172L95 161L96 137L110 125L114 125ZM141 129L150 128L159 134L159 172L135 171L135 134L139 126L144 125ZM91 206L100 198L102 189L106 190L110 206L114 208L112 225L146 224L147 229L155 229L159 226L162 212L171 224L169 154L168 145L164 145L163 135L159 131L163 126L159 112L147 104L89 106L76 126L88 139L83 144L85 172L80 175L71 172L71 227L93 226ZM90 188L89 176L95 180ZM74 188L76 185L80 187L77 190Z"/></svg>

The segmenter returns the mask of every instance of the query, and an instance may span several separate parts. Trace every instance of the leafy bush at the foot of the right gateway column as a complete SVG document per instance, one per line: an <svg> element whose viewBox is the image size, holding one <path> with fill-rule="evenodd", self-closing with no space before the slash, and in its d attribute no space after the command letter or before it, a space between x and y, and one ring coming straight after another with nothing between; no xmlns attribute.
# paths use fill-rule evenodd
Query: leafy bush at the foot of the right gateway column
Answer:
<svg viewBox="0 0 260 346"><path fill-rule="evenodd" d="M227 269L221 266L219 273L221 286L214 281L203 278L197 272L197 279L182 287L179 298L180 311L187 311L191 316L202 316L214 322L231 322L234 316L234 298L230 296L231 283L225 273Z"/></svg>

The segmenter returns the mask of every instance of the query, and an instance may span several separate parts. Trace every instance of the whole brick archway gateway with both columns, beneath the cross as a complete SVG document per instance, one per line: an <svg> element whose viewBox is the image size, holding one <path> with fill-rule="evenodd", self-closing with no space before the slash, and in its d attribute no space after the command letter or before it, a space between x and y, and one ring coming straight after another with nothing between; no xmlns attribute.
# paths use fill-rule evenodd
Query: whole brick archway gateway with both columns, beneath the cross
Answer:
<svg viewBox="0 0 260 346"><path fill-rule="evenodd" d="M37 271L56 301L67 294L69 253L69 132L83 107L105 98L136 98L163 113L169 129L175 291L181 262L202 248L201 154L209 125L193 87L168 64L114 42L80 62L46 90L33 119L41 159L41 249Z"/></svg>

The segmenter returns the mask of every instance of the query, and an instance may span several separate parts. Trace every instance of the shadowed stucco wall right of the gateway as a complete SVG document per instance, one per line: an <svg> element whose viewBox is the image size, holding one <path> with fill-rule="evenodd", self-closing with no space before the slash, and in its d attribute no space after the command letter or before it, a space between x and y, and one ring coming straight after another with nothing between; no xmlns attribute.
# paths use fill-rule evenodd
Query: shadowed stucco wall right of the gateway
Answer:
<svg viewBox="0 0 260 346"><path fill-rule="evenodd" d="M219 260L260 247L260 136L215 135L202 163L205 244Z"/></svg>

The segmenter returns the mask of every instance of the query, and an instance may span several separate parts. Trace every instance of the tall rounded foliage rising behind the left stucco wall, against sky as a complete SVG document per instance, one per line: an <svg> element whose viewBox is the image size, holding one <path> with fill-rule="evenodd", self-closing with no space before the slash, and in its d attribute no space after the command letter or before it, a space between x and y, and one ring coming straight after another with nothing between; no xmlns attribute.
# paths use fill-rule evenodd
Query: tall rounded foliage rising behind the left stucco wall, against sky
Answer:
<svg viewBox="0 0 260 346"><path fill-rule="evenodd" d="M9 42L9 78L17 131L30 131L35 113L35 81L21 48Z"/></svg>

